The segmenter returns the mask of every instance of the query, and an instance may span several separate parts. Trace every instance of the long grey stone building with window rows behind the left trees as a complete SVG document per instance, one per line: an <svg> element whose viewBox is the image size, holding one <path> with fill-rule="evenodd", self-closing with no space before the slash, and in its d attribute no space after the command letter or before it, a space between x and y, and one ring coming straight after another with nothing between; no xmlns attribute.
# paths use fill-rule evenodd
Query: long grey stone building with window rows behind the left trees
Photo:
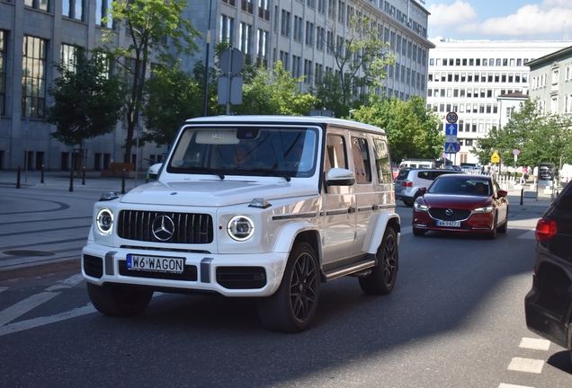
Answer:
<svg viewBox="0 0 572 388"><path fill-rule="evenodd" d="M427 60L433 43L426 39L425 8L416 0L187 0L183 13L202 38L200 52L182 57L183 69L204 62L210 29L212 46L230 40L246 57L269 68L282 60L292 75L306 75L300 90L307 91L315 75L335 72L335 57L327 43L344 42L352 15L367 15L379 29L395 66L388 67L385 92L407 100L425 97ZM103 31L112 29L103 17L112 0L0 0L0 170L24 166L29 170L68 170L72 147L49 137L55 128L43 121L49 106L47 89L57 77L53 63L66 61L77 48L96 48ZM126 34L118 29L115 44L124 46ZM21 85L24 85L22 88ZM112 134L85 143L88 170L102 170L122 162L126 128L118 123ZM133 148L132 161L160 160L166 148ZM26 158L27 155L27 158Z"/></svg>

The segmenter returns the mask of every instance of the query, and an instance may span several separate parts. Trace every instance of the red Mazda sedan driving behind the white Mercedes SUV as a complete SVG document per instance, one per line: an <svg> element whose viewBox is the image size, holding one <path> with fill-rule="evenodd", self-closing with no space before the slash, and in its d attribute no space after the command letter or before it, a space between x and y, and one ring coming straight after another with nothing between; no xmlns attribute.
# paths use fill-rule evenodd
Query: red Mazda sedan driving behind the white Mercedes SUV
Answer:
<svg viewBox="0 0 572 388"><path fill-rule="evenodd" d="M505 233L508 198L490 176L445 174L433 181L413 206L413 234L428 231Z"/></svg>

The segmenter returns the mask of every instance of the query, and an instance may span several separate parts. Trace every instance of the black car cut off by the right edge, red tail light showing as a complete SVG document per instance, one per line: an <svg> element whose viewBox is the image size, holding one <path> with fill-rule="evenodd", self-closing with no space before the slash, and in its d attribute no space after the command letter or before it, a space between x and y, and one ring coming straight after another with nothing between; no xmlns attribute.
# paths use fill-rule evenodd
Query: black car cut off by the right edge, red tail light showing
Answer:
<svg viewBox="0 0 572 388"><path fill-rule="evenodd" d="M536 225L534 275L524 310L529 330L572 350L572 185Z"/></svg>

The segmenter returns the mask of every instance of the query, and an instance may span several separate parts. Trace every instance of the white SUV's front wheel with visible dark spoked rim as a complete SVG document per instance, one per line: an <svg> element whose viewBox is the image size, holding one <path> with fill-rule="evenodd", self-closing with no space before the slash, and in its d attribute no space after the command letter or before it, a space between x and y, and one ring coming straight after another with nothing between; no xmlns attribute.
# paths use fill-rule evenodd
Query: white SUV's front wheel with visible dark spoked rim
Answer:
<svg viewBox="0 0 572 388"><path fill-rule="evenodd" d="M316 314L319 290L316 252L308 242L299 242L290 251L278 290L258 302L260 320L271 331L306 330Z"/></svg>

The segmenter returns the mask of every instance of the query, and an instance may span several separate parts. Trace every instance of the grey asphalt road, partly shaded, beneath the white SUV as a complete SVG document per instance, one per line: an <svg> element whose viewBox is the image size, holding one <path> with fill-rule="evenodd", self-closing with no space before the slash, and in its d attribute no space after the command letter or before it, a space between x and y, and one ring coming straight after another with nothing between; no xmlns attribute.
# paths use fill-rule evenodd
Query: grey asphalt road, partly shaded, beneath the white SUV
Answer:
<svg viewBox="0 0 572 388"><path fill-rule="evenodd" d="M156 295L129 319L94 312L78 269L0 281L4 386L570 387L568 352L526 329L533 232L512 206L495 241L404 234L397 286L323 285L310 330L266 331L255 300Z"/></svg>

